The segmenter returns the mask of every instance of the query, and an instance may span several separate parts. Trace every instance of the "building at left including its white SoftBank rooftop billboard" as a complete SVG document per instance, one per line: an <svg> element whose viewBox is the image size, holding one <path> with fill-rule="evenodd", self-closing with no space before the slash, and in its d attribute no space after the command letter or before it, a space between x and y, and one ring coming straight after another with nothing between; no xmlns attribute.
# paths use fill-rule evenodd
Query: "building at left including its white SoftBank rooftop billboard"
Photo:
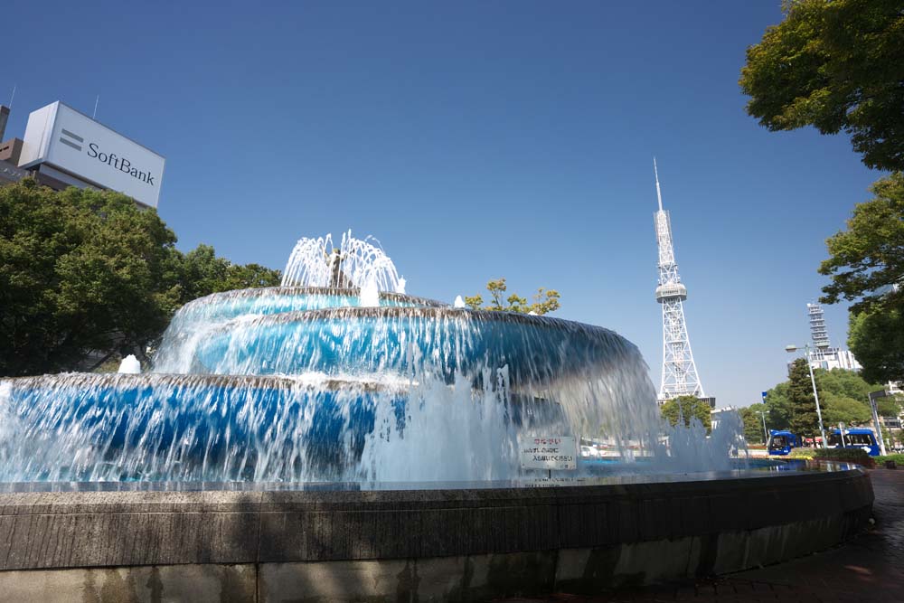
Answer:
<svg viewBox="0 0 904 603"><path fill-rule="evenodd" d="M0 140L9 112L0 107ZM0 186L33 176L56 191L70 186L108 189L156 207L165 162L162 155L57 101L29 115L24 138L0 143Z"/></svg>

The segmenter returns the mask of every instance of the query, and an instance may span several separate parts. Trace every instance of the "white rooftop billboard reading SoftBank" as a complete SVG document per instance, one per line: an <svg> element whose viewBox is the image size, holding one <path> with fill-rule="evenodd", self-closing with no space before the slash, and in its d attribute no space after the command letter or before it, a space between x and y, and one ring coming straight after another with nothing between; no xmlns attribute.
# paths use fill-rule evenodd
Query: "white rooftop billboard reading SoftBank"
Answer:
<svg viewBox="0 0 904 603"><path fill-rule="evenodd" d="M165 159L79 111L55 102L28 117L21 167L46 164L156 207Z"/></svg>

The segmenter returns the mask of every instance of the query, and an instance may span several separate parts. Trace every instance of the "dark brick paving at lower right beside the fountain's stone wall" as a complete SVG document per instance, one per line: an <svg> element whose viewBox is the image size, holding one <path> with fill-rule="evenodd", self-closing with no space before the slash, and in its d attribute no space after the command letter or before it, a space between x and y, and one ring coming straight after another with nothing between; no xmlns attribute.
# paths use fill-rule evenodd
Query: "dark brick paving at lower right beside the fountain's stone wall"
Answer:
<svg viewBox="0 0 904 603"><path fill-rule="evenodd" d="M844 546L720 579L586 598L560 594L534 603L725 601L904 603L904 469L871 471L874 528ZM510 603L511 603L510 601Z"/></svg>

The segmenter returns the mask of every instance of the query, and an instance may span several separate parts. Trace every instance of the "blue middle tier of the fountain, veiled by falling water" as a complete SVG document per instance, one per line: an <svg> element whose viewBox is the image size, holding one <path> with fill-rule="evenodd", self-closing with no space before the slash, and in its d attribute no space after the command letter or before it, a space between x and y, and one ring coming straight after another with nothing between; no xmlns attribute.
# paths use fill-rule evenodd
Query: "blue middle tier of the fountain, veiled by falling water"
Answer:
<svg viewBox="0 0 904 603"><path fill-rule="evenodd" d="M636 363L633 344L601 327L542 316L449 307L327 307L241 317L191 353L218 374L430 373L508 367L513 383L601 374ZM642 361L641 361L642 363Z"/></svg>

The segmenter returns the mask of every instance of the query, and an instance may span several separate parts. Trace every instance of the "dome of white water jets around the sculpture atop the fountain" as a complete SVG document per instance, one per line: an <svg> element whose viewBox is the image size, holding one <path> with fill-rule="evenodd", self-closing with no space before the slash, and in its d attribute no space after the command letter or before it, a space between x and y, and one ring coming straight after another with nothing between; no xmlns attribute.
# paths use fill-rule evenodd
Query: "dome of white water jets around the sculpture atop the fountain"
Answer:
<svg viewBox="0 0 904 603"><path fill-rule="evenodd" d="M352 231L343 232L338 247L332 234L298 240L283 270L282 286L368 287L405 293L405 279L400 278L380 241L370 236L355 239Z"/></svg>

